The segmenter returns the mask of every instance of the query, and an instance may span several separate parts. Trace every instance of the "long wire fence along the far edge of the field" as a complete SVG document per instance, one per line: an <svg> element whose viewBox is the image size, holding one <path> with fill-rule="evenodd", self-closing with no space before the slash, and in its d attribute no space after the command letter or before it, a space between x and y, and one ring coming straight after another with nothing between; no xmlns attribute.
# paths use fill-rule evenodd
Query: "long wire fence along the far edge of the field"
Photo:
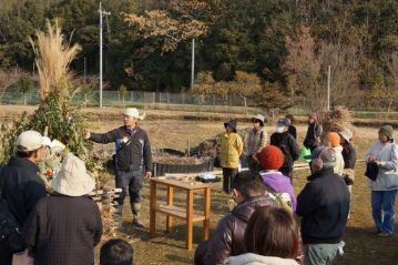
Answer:
<svg viewBox="0 0 398 265"><path fill-rule="evenodd" d="M127 91L103 91L103 106L137 106L141 109L164 109L172 111L223 112L234 114L256 113L261 110L245 106L245 100L237 95L198 95L192 93L167 93ZM310 99L296 98L293 106L285 112L295 115L305 115L310 112ZM37 105L40 102L38 90L27 93L7 91L0 94L0 104ZM72 94L72 102L82 106L98 106L100 104L99 91L76 92ZM249 100L247 105L252 105ZM384 102L379 100L376 109L350 108L351 113L358 118L389 118L398 119L398 101ZM268 110L267 114L277 115L278 110Z"/></svg>

